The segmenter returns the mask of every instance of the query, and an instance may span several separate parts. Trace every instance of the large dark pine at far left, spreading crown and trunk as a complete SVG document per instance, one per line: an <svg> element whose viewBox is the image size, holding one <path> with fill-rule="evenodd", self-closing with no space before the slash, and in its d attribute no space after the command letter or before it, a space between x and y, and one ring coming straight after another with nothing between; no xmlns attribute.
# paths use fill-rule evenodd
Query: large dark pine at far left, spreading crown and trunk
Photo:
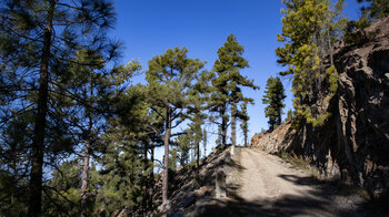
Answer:
<svg viewBox="0 0 389 217"><path fill-rule="evenodd" d="M114 21L113 7L111 2L100 0L4 1L0 7L1 65L7 65L1 68L1 74L7 74L2 89L11 87L10 95L14 96L6 104L2 116L12 107L7 105L14 105L20 99L36 107L28 213L39 216L46 135L50 135L47 132L51 127L49 122L60 122L52 116L52 105L56 105L50 102L52 91L59 85L56 83L60 81L58 78L68 74L69 61L77 50L113 48L106 40L106 30ZM106 54L114 53L111 51ZM17 82L12 82L13 79ZM53 126L59 128L57 123Z"/></svg>

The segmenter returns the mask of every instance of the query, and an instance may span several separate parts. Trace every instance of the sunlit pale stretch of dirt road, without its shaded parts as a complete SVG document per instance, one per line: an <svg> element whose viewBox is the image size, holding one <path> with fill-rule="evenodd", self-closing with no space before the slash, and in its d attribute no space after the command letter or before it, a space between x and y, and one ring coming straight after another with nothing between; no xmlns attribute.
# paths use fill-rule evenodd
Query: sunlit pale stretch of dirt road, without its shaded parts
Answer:
<svg viewBox="0 0 389 217"><path fill-rule="evenodd" d="M310 186L298 185L291 179L308 177L277 156L259 149L242 148L240 153L241 188L238 195L246 200L270 199L285 196L312 197Z"/></svg>

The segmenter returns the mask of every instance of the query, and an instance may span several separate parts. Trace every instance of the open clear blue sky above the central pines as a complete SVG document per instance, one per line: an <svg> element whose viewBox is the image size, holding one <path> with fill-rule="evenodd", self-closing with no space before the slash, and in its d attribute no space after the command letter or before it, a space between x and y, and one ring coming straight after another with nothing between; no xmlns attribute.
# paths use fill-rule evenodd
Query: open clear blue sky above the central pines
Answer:
<svg viewBox="0 0 389 217"><path fill-rule="evenodd" d="M360 4L346 0L345 13L355 19ZM269 76L281 71L275 49L277 33L281 32L281 0L116 0L118 22L112 32L124 42L122 63L139 59L147 70L148 61L169 48L186 46L189 58L206 61L210 70L217 59L217 50L233 33L245 46L243 56L250 68L241 73L260 86L259 91L243 90L255 99L248 108L250 137L267 130L261 97ZM133 80L144 83L142 76ZM285 112L292 107L291 84L282 79L287 90ZM240 131L239 131L240 132ZM238 137L238 143L242 138Z"/></svg>

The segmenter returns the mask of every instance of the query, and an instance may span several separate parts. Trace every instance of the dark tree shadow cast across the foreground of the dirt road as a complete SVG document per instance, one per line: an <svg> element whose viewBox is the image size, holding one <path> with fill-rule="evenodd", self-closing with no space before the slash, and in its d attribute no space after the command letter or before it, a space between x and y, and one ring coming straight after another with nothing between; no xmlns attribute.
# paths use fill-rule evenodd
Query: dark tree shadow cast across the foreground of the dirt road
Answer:
<svg viewBox="0 0 389 217"><path fill-rule="evenodd" d="M238 164L239 169L245 169ZM368 203L357 195L345 196L333 185L311 177L280 175L295 185L310 186L301 195L245 200L238 196L241 186L228 186L228 198L210 198L196 204L190 216L389 216L388 210Z"/></svg>

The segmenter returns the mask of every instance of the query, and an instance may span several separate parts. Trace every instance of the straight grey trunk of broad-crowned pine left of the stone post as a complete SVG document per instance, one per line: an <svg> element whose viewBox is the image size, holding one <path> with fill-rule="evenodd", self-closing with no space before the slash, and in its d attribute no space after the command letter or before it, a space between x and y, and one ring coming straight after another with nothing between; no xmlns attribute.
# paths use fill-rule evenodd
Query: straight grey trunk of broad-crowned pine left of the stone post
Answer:
<svg viewBox="0 0 389 217"><path fill-rule="evenodd" d="M162 179L162 205L167 205L169 203L168 200L168 175L169 175L169 140L170 140L170 134L171 134L171 128L170 128L170 107L167 107L167 113L166 113L166 120L164 120L164 125L166 125L166 132L163 136L163 146L164 146L164 159L163 159L163 179Z"/></svg>

